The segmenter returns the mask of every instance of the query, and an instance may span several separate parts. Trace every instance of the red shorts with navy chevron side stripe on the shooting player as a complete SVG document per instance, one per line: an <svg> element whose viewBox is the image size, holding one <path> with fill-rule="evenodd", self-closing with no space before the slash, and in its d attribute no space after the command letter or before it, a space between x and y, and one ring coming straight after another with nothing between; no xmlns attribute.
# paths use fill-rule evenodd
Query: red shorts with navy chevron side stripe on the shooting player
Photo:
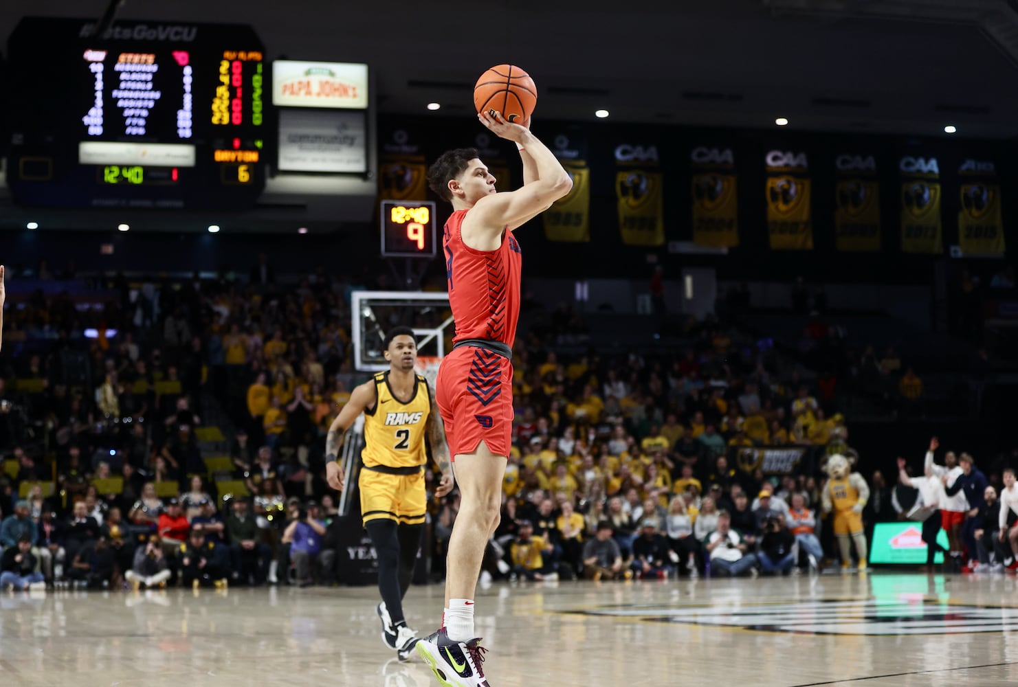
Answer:
<svg viewBox="0 0 1018 687"><path fill-rule="evenodd" d="M442 358L435 400L454 458L475 452L480 442L497 456L509 455L512 374L511 360L483 348L463 346Z"/></svg>

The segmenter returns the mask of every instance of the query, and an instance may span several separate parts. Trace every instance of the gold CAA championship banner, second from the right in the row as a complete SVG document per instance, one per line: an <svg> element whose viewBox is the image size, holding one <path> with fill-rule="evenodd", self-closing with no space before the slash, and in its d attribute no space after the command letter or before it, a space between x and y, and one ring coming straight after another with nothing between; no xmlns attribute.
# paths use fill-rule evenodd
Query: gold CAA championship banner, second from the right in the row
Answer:
<svg viewBox="0 0 1018 687"><path fill-rule="evenodd" d="M906 156L901 173L901 249L903 252L944 252L941 220L941 170L937 158Z"/></svg>

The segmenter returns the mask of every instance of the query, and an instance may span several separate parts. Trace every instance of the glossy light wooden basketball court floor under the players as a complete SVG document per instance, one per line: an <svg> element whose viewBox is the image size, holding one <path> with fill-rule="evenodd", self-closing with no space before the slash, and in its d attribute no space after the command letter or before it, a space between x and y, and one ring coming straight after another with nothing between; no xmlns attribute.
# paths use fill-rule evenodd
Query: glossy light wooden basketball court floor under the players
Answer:
<svg viewBox="0 0 1018 687"><path fill-rule="evenodd" d="M1018 683L1013 577L493 585L492 687ZM380 638L373 588L0 595L0 685L437 685ZM431 632L442 587L414 587ZM1010 640L1010 641L1009 641Z"/></svg>

